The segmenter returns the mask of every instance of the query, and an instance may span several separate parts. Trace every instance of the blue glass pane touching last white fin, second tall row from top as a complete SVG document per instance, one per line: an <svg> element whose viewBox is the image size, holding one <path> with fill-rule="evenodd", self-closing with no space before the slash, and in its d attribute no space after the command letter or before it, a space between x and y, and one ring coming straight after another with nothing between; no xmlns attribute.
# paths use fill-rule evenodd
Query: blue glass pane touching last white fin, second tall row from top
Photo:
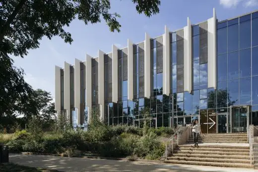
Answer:
<svg viewBox="0 0 258 172"><path fill-rule="evenodd" d="M217 78L218 81L227 80L227 54L220 55L217 58Z"/></svg>

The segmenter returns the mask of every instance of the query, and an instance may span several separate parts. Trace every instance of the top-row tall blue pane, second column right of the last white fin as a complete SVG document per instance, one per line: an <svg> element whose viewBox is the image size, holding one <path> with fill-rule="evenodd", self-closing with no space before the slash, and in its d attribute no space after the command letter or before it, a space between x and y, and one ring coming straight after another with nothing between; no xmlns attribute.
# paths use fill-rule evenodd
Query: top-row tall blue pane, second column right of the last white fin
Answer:
<svg viewBox="0 0 258 172"><path fill-rule="evenodd" d="M238 50L238 24L228 27L228 52Z"/></svg>

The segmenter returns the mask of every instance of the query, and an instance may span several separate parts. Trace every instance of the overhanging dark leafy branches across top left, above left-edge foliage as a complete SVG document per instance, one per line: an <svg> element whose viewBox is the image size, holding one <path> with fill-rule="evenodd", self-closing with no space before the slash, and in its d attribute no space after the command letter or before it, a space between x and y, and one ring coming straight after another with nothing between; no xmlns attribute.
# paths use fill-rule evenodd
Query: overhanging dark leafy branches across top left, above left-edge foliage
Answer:
<svg viewBox="0 0 258 172"><path fill-rule="evenodd" d="M160 0L131 0L138 13L159 12ZM71 43L64 27L78 18L86 25L105 20L111 32L120 31L118 13L110 12L110 0L2 0L0 2L0 51L24 57L39 48L43 36L59 36Z"/></svg>

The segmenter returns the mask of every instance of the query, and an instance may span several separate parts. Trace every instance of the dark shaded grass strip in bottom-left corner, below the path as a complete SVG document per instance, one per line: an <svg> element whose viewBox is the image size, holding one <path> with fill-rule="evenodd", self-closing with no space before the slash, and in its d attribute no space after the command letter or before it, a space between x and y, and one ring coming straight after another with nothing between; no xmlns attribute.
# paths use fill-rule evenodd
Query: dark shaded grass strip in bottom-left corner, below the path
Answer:
<svg viewBox="0 0 258 172"><path fill-rule="evenodd" d="M20 165L9 163L9 164L0 164L0 172L60 172L60 171L26 167L26 166L20 166Z"/></svg>

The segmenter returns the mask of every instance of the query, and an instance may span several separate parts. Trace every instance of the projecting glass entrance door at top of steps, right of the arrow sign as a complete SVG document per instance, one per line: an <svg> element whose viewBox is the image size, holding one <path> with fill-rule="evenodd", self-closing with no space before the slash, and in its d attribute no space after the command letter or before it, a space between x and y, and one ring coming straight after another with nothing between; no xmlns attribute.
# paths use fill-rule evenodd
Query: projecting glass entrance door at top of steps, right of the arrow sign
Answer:
<svg viewBox="0 0 258 172"><path fill-rule="evenodd" d="M247 132L250 112L250 106L232 106L230 108L231 132Z"/></svg>

